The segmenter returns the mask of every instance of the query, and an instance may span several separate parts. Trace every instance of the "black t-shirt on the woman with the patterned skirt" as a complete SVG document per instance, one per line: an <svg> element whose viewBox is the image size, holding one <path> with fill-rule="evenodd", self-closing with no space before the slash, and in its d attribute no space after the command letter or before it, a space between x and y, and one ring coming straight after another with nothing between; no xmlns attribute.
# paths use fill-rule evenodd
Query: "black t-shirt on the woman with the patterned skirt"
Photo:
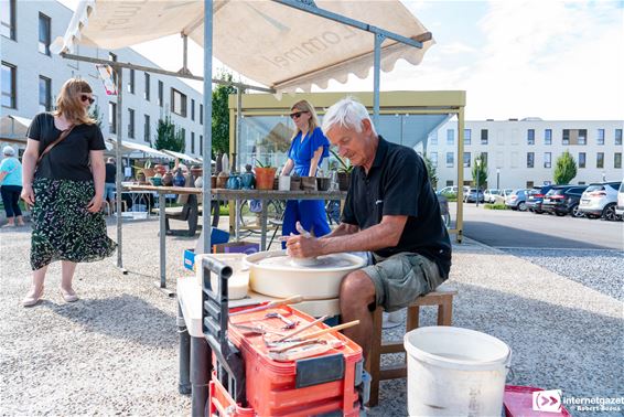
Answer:
<svg viewBox="0 0 624 417"><path fill-rule="evenodd" d="M36 115L26 132L29 139L39 141L40 154L58 139L60 135L61 130L54 126L54 116L49 113ZM97 125L78 125L43 157L36 168L35 178L92 181L89 151L104 149L104 137Z"/></svg>

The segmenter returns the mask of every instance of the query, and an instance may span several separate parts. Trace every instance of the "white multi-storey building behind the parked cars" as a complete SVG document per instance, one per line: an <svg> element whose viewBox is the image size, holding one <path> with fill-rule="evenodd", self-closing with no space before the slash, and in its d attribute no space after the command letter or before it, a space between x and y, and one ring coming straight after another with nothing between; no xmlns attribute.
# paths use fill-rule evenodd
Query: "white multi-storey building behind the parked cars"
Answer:
<svg viewBox="0 0 624 417"><path fill-rule="evenodd" d="M439 189L458 184L459 164L464 184L472 184L477 158L487 163L488 188L548 184L564 151L577 162L572 183L622 181L623 125L622 120L466 120L464 154L458 156L458 122L450 120L429 135L427 154L437 165Z"/></svg>

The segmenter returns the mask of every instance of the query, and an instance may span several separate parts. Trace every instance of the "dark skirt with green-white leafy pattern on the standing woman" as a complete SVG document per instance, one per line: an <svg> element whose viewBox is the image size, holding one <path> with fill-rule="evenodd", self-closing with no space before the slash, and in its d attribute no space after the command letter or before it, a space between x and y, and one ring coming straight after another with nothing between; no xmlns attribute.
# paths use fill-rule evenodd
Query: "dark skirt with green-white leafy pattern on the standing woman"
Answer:
<svg viewBox="0 0 624 417"><path fill-rule="evenodd" d="M40 178L34 181L33 191L33 270L54 260L90 263L112 255L117 244L106 234L104 213L87 211L95 195L92 181Z"/></svg>

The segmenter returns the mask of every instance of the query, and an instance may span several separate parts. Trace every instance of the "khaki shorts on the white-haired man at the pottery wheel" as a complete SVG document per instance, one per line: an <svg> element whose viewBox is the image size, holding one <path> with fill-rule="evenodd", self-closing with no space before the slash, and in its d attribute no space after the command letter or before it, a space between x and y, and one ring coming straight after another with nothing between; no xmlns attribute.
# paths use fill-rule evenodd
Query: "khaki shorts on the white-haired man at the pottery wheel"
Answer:
<svg viewBox="0 0 624 417"><path fill-rule="evenodd" d="M378 258L362 269L375 285L375 302L386 311L409 306L417 297L434 290L444 278L438 265L422 255L401 253Z"/></svg>

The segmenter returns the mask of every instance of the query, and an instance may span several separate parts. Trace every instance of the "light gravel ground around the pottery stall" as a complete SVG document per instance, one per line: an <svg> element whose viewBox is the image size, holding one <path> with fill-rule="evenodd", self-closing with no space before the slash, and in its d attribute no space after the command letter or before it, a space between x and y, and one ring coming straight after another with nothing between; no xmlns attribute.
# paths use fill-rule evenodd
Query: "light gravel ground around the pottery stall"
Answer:
<svg viewBox="0 0 624 417"><path fill-rule="evenodd" d="M82 299L65 304L56 289L60 265L54 264L44 301L24 309L19 301L30 282L29 232L0 232L0 414L189 415L189 397L177 394L175 299L153 285L159 271L158 222L125 225L129 275L115 267L115 257L79 265L75 288ZM115 236L112 226L109 234ZM192 239L168 237L170 288L185 275L182 250L193 246ZM508 383L560 388L564 397L622 396L624 327L617 293L601 292L592 280L568 278L536 265L534 258L528 261L528 253L519 255L470 242L455 247L450 282L459 295L453 324L489 333L512 346L514 375ZM596 264L613 263L613 254L600 256L604 258ZM613 274L623 270L622 257L615 263ZM621 280L621 275L612 277ZM424 309L421 322L434 322L433 309ZM402 334L395 328L384 338ZM394 356L384 362L398 360ZM406 407L405 379L383 382L380 405L369 415L405 416Z"/></svg>

